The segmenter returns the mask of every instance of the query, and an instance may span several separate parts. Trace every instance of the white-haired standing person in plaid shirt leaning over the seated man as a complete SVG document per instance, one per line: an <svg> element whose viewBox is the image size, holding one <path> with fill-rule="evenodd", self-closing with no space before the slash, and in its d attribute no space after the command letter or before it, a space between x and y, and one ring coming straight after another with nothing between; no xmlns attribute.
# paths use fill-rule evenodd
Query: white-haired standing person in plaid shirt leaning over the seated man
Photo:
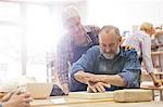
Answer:
<svg viewBox="0 0 163 107"><path fill-rule="evenodd" d="M64 94L70 92L70 68L87 50L98 45L100 28L93 25L83 25L78 10L67 6L62 13L66 34L58 42L58 76Z"/></svg>

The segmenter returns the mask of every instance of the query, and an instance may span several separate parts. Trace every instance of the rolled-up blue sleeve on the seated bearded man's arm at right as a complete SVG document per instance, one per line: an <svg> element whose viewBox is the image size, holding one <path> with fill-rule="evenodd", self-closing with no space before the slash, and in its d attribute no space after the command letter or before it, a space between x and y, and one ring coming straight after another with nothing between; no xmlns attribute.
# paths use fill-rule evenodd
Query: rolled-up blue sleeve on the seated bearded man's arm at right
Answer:
<svg viewBox="0 0 163 107"><path fill-rule="evenodd" d="M124 69L118 73L127 83L127 88L139 88L141 67L136 51L129 51Z"/></svg>

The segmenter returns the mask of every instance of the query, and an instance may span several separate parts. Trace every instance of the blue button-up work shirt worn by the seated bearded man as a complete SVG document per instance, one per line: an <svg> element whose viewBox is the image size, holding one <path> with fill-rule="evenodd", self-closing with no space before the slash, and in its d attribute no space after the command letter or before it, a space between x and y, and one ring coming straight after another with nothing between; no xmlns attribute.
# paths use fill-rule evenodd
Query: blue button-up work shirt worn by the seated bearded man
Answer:
<svg viewBox="0 0 163 107"><path fill-rule="evenodd" d="M140 63L135 50L124 50L120 48L120 53L114 59L106 59L101 53L99 45L87 51L76 63L71 71L71 91L86 91L87 85L74 79L74 73L78 70L96 75L120 75L127 83L126 88L139 88ZM123 89L112 85L106 90Z"/></svg>

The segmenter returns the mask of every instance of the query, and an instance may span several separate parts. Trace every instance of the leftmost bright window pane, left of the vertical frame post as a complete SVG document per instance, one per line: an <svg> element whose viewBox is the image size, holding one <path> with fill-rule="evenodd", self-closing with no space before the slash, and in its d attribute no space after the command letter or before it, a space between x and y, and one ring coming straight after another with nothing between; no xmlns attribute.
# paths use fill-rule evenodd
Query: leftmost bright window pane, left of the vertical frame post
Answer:
<svg viewBox="0 0 163 107"><path fill-rule="evenodd" d="M0 2L0 77L21 75L20 5ZM13 73L14 72L14 73Z"/></svg>

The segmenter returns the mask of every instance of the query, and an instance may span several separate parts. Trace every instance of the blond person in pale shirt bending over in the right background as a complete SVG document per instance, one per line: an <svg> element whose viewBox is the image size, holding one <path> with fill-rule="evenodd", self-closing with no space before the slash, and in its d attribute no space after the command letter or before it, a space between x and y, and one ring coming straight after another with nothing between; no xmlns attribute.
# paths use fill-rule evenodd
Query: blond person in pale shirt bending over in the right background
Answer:
<svg viewBox="0 0 163 107"><path fill-rule="evenodd" d="M135 36L126 38L123 45L130 46L137 50L140 63L143 61L145 68L151 76L154 85L162 85L161 81L156 79L154 75L154 68L151 58L151 36L154 35L155 30L153 25L150 23L142 23L140 25L140 31Z"/></svg>

